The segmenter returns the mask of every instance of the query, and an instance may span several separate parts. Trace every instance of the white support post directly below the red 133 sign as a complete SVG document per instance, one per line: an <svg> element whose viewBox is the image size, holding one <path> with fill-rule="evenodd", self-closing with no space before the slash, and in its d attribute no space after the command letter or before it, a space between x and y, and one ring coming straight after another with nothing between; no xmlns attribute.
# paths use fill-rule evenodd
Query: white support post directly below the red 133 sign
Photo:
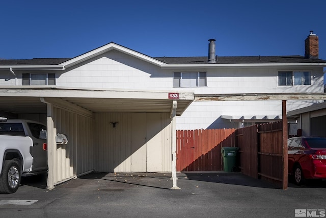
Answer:
<svg viewBox="0 0 326 218"><path fill-rule="evenodd" d="M172 188L171 189L181 189L177 186L176 114L177 114L177 101L173 101L172 110L171 110L171 137L172 137Z"/></svg>

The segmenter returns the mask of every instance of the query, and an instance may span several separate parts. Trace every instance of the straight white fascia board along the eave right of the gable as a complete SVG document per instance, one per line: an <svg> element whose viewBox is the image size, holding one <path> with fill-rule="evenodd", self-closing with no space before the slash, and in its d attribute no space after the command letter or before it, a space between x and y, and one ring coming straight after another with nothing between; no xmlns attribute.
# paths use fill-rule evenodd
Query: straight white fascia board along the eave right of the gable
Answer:
<svg viewBox="0 0 326 218"><path fill-rule="evenodd" d="M326 63L259 63L259 64L165 64L162 68L216 68L216 67L279 67L279 66L321 66Z"/></svg>

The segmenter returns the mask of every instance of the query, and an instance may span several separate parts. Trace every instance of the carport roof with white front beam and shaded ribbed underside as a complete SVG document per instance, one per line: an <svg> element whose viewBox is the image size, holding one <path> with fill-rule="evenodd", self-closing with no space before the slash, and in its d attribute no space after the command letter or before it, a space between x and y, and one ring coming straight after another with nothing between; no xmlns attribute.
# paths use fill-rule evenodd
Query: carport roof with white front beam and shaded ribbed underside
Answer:
<svg viewBox="0 0 326 218"><path fill-rule="evenodd" d="M4 114L44 113L50 102L74 106L86 113L171 112L174 99L168 91L107 90L66 87L2 87L0 111ZM179 93L177 115L193 102L194 93Z"/></svg>

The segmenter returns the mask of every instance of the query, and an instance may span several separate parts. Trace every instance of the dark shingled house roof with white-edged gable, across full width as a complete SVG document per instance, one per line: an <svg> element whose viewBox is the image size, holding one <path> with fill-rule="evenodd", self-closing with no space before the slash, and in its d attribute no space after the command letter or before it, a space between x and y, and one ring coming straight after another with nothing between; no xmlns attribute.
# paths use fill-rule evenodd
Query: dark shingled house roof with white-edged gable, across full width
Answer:
<svg viewBox="0 0 326 218"><path fill-rule="evenodd" d="M326 66L326 60L310 59L300 55L293 56L230 56L217 57L216 63L208 63L208 57L150 57L137 51L128 49L115 42L110 42L92 51L74 58L33 58L18 60L0 60L1 68L39 68L53 67L65 69L73 65L95 58L106 52L116 50L143 61L161 67L214 67L214 66L277 66L277 65L316 65Z"/></svg>

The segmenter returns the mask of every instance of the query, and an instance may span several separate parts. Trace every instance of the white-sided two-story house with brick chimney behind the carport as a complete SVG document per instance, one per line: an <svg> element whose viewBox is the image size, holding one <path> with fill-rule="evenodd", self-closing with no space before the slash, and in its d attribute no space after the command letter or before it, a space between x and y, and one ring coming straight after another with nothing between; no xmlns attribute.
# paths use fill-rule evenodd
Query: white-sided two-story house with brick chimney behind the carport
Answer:
<svg viewBox="0 0 326 218"><path fill-rule="evenodd" d="M171 90L206 94L323 92L325 60L318 36L305 41L305 56L219 57L209 40L208 57L152 58L114 42L75 58L0 60L1 65L49 66L19 71L0 85L56 85L95 89ZM57 67L56 69L51 69ZM41 73L42 72L42 73ZM316 101L288 101L287 110ZM194 102L177 118L177 129L239 128L281 118L280 101Z"/></svg>

